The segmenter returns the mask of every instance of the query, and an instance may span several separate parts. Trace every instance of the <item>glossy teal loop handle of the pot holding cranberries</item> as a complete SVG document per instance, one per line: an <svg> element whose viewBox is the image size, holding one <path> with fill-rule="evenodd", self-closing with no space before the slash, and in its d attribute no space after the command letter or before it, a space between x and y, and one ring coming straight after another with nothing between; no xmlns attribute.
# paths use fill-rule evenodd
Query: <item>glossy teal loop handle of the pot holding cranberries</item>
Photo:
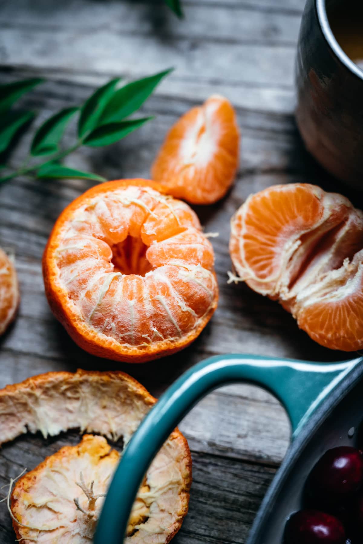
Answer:
<svg viewBox="0 0 363 544"><path fill-rule="evenodd" d="M181 419L206 394L233 382L266 388L284 405L292 438L362 358L307 363L256 355L224 355L196 364L150 410L128 443L104 500L95 544L122 544L132 505L153 458Z"/></svg>

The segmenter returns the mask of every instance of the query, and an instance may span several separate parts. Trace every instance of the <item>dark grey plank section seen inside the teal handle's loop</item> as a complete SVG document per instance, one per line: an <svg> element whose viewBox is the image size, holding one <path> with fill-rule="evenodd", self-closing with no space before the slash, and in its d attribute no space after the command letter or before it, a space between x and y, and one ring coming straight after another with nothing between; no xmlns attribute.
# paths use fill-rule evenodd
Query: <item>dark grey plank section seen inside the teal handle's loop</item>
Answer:
<svg viewBox="0 0 363 544"><path fill-rule="evenodd" d="M189 514L176 544L245 542L274 469L192 452Z"/></svg>

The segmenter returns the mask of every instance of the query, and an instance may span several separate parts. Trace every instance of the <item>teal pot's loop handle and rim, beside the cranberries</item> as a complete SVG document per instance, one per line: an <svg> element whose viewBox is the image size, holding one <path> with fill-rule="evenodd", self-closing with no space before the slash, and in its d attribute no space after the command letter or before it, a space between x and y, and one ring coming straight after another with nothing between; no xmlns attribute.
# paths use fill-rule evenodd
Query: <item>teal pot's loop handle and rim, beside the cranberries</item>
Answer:
<svg viewBox="0 0 363 544"><path fill-rule="evenodd" d="M124 542L141 481L171 431L206 394L241 381L272 392L284 405L291 422L291 446L247 541L281 544L288 517L301 508L304 483L312 466L325 450L352 444L348 430L357 427L363 418L362 377L363 357L319 364L227 355L197 364L169 387L128 443L104 502L95 544Z"/></svg>

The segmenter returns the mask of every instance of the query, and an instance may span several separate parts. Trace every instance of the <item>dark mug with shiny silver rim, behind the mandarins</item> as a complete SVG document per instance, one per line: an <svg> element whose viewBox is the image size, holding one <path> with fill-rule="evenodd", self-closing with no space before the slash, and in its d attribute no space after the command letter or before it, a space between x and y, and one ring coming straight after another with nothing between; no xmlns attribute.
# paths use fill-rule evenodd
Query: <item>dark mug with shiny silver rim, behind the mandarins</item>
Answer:
<svg viewBox="0 0 363 544"><path fill-rule="evenodd" d="M331 174L363 180L363 71L343 52L328 13L341 0L307 0L296 60L297 124L307 149Z"/></svg>

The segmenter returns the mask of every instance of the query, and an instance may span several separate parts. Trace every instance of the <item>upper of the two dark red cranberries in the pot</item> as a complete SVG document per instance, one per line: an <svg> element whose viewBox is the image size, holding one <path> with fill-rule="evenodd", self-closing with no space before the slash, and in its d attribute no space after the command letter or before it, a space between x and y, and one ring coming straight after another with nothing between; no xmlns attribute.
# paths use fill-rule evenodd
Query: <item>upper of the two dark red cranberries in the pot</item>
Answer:
<svg viewBox="0 0 363 544"><path fill-rule="evenodd" d="M307 489L321 504L342 502L360 489L363 461L358 449L340 446L329 449L312 469Z"/></svg>

